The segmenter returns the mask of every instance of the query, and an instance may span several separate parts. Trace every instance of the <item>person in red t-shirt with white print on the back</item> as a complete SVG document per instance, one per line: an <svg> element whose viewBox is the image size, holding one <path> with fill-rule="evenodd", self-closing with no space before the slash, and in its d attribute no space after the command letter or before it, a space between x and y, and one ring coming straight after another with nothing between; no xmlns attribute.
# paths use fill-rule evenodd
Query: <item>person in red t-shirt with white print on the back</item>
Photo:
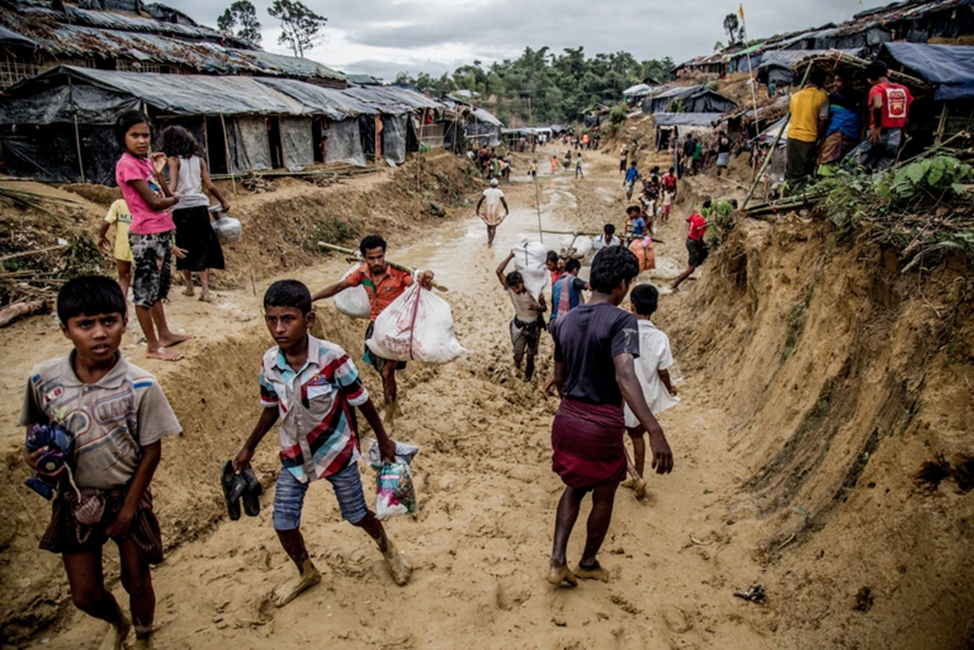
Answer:
<svg viewBox="0 0 974 650"><path fill-rule="evenodd" d="M913 95L906 86L889 80L889 68L882 61L866 67L869 82L869 135L849 153L866 169L889 169L903 142L903 130L910 117Z"/></svg>

